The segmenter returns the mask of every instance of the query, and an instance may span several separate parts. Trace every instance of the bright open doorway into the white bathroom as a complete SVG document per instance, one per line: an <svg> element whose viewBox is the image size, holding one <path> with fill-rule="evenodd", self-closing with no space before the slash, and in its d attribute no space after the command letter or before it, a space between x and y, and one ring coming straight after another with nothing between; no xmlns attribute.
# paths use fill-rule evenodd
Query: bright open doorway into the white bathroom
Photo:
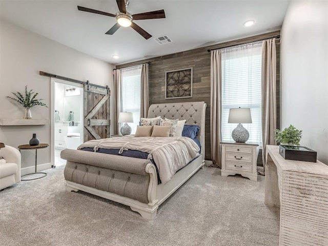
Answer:
<svg viewBox="0 0 328 246"><path fill-rule="evenodd" d="M53 79L53 137L54 166L66 164L60 158L64 149L77 149L83 143L84 87L77 83Z"/></svg>

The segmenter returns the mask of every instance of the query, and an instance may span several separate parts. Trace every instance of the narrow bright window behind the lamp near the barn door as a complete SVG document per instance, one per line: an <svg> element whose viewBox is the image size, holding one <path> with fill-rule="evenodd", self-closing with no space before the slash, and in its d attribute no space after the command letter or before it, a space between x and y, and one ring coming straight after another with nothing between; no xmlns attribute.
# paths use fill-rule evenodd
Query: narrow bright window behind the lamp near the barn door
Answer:
<svg viewBox="0 0 328 246"><path fill-rule="evenodd" d="M140 120L141 66L122 69L121 76L121 112L133 113L134 122L128 125L132 128L131 134L134 134Z"/></svg>

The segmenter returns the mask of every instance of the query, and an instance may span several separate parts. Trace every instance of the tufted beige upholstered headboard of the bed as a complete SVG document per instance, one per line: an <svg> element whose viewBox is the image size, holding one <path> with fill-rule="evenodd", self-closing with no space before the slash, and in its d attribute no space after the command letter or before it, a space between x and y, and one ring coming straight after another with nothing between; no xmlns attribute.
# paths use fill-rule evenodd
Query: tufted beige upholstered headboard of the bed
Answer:
<svg viewBox="0 0 328 246"><path fill-rule="evenodd" d="M186 125L198 125L197 138L201 145L201 154L205 158L205 112L204 101L172 104L152 104L148 110L148 118L160 116L168 119L186 119Z"/></svg>

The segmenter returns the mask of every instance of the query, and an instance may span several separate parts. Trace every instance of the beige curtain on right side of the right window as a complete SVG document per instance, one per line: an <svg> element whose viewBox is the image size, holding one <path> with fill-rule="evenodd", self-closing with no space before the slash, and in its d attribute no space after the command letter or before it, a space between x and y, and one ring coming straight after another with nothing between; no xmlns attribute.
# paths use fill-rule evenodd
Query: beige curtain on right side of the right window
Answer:
<svg viewBox="0 0 328 246"><path fill-rule="evenodd" d="M267 145L276 145L274 139L277 121L276 101L276 38L263 40L262 46L262 160L265 172Z"/></svg>

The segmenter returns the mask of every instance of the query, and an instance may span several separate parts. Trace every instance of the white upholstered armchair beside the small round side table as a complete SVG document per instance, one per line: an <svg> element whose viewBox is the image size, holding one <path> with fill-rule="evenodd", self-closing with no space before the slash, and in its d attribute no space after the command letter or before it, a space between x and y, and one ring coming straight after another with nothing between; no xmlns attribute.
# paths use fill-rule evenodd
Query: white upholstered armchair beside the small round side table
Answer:
<svg viewBox="0 0 328 246"><path fill-rule="evenodd" d="M0 163L0 190L20 182L20 152L11 146L3 146L0 145L0 156L6 163Z"/></svg>

